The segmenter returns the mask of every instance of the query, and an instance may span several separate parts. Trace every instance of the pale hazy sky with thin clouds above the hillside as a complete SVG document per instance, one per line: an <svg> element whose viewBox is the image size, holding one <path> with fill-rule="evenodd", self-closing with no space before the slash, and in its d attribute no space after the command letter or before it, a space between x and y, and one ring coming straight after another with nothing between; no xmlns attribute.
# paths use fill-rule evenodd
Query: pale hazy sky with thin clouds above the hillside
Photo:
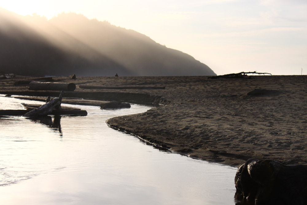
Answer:
<svg viewBox="0 0 307 205"><path fill-rule="evenodd" d="M75 12L136 30L207 64L307 75L307 0L0 0L21 15Z"/></svg>

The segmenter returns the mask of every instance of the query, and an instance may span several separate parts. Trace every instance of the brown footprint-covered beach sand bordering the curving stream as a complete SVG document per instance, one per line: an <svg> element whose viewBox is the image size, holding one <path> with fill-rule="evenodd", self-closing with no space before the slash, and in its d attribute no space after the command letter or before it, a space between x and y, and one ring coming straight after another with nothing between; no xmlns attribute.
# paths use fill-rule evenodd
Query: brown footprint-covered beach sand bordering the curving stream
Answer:
<svg viewBox="0 0 307 205"><path fill-rule="evenodd" d="M28 78L0 81L0 93L37 96L49 93L14 86L19 79ZM112 118L107 123L173 152L232 166L248 158L307 164L307 76L55 79L76 83L77 89L65 92L64 97L165 104L145 113ZM166 88L98 90L80 89L81 84ZM266 92L247 95L255 89Z"/></svg>

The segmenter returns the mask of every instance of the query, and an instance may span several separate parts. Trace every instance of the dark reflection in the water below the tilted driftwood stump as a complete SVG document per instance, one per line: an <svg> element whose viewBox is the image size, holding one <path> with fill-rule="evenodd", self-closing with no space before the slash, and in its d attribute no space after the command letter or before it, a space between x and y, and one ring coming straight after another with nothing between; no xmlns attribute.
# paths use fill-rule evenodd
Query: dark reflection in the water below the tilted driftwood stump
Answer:
<svg viewBox="0 0 307 205"><path fill-rule="evenodd" d="M29 119L29 120L31 120L33 122L36 122L36 123L45 124L52 131L59 132L60 133L60 137L63 137L63 132L62 132L62 129L61 129L61 116L60 115L55 115L53 118L54 118L53 121L52 121L52 117L51 116L29 117L27 119Z"/></svg>

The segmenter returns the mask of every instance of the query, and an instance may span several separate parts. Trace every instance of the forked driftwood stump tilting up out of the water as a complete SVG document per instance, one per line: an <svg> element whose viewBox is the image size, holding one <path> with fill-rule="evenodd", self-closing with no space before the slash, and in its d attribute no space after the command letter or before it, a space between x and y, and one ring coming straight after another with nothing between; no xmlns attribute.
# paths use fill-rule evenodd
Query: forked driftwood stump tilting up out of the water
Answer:
<svg viewBox="0 0 307 205"><path fill-rule="evenodd" d="M62 90L59 97L56 97L53 100L49 101L48 103L43 104L39 108L35 108L31 110L30 112L25 113L23 116L24 117L37 117L37 116L49 115L51 114L53 109L60 110L63 93L64 91Z"/></svg>

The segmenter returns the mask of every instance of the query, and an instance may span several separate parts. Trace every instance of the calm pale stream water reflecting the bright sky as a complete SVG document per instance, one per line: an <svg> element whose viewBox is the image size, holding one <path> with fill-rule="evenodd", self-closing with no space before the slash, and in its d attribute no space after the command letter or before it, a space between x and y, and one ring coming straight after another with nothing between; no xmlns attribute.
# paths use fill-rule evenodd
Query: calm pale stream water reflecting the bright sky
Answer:
<svg viewBox="0 0 307 205"><path fill-rule="evenodd" d="M0 109L21 102L35 103L0 95ZM0 118L2 204L235 204L236 168L160 151L105 123L150 107L69 106L88 115Z"/></svg>

